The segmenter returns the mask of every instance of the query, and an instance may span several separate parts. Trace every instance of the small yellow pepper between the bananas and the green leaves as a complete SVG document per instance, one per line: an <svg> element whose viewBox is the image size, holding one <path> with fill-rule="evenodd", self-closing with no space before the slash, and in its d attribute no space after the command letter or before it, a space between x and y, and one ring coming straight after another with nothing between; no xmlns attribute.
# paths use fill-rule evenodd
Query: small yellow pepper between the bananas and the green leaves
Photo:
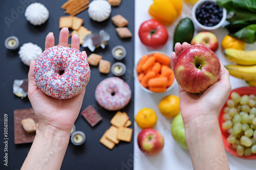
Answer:
<svg viewBox="0 0 256 170"><path fill-rule="evenodd" d="M221 42L222 50L226 48L234 48L237 50L245 49L245 41L226 35Z"/></svg>

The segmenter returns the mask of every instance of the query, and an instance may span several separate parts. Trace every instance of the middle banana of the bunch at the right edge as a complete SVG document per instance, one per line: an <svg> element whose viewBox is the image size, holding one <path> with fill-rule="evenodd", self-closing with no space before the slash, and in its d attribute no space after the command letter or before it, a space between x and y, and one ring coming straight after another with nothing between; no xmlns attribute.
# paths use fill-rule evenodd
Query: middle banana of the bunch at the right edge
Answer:
<svg viewBox="0 0 256 170"><path fill-rule="evenodd" d="M229 71L229 75L233 77L246 81L256 81L256 65L225 65L225 68Z"/></svg>

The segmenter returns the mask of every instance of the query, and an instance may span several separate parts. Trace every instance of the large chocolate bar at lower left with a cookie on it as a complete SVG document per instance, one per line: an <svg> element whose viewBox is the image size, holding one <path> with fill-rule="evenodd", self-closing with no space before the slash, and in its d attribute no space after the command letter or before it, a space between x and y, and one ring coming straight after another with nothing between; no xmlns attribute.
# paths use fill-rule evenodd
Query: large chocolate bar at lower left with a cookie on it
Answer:
<svg viewBox="0 0 256 170"><path fill-rule="evenodd" d="M33 118L35 123L38 123L38 120L35 116L34 110L29 109L17 109L13 112L14 117L14 143L31 143L34 141L35 132L27 133L22 126L22 119L24 118Z"/></svg>

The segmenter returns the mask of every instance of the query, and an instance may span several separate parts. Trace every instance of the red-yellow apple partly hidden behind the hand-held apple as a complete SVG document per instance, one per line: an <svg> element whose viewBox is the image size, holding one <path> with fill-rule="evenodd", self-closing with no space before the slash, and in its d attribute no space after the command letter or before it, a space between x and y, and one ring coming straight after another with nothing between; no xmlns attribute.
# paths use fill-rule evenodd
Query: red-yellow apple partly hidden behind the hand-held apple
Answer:
<svg viewBox="0 0 256 170"><path fill-rule="evenodd" d="M219 47L219 41L216 35L211 32L200 32L191 40L191 45L201 44L210 48L213 52L216 52Z"/></svg>

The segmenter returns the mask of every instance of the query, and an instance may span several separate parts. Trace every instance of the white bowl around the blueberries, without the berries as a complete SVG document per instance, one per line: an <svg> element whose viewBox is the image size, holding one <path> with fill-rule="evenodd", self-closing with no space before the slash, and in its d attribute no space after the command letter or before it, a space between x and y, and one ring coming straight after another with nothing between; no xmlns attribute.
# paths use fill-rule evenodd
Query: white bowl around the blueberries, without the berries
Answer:
<svg viewBox="0 0 256 170"><path fill-rule="evenodd" d="M214 31L214 30L220 28L223 25L223 23L225 22L225 20L227 18L227 11L226 11L225 8L222 8L222 10L223 10L222 19L220 20L220 22L216 26L212 26L212 27L203 26L201 23L198 22L198 20L196 18L196 9L197 9L198 6L203 4L205 1L216 2L216 0L200 0L193 6L192 17L193 17L194 26L195 26L195 29L197 31Z"/></svg>

